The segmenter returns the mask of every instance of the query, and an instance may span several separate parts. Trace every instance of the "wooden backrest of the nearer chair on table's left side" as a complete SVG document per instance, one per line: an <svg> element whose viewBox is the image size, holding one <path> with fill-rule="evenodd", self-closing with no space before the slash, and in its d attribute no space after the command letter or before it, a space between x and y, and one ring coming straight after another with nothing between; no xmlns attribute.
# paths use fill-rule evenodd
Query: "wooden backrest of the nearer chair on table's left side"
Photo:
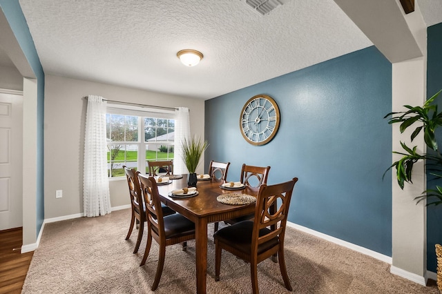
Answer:
<svg viewBox="0 0 442 294"><path fill-rule="evenodd" d="M157 182L154 177L146 177L137 172L140 179L140 186L143 195L144 205L146 206L146 220L148 228L151 229L154 237L164 237L164 219L161 208L160 193L158 193ZM156 239L156 237L155 237Z"/></svg>

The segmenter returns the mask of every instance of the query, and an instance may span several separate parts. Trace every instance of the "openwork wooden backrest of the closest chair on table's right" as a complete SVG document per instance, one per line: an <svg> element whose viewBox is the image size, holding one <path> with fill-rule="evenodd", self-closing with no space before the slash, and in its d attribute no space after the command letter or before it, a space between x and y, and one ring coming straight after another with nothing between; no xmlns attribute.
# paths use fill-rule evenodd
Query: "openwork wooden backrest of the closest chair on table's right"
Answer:
<svg viewBox="0 0 442 294"><path fill-rule="evenodd" d="M255 219L253 221L252 251L257 252L258 246L270 239L278 237L280 246L284 246L285 226L291 194L298 178L294 177L289 182L267 186L262 184L256 198ZM278 209L278 200L281 203ZM276 210L276 211L275 211ZM273 227L267 235L260 236L262 228Z"/></svg>

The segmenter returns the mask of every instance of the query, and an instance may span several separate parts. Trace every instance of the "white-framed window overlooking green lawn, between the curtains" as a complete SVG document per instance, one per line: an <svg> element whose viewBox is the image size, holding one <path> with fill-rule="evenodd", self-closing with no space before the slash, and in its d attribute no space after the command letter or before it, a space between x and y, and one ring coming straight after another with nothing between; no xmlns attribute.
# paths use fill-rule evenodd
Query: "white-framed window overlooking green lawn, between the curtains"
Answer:
<svg viewBox="0 0 442 294"><path fill-rule="evenodd" d="M108 176L124 177L123 166L148 173L147 161L173 159L174 134L173 112L108 107Z"/></svg>

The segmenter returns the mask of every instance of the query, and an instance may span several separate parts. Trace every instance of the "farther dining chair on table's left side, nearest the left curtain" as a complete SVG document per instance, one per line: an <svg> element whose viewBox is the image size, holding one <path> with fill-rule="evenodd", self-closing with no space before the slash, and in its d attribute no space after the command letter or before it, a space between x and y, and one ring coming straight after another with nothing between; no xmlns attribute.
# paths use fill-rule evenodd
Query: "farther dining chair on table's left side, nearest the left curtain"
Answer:
<svg viewBox="0 0 442 294"><path fill-rule="evenodd" d="M127 184L129 187L129 196L131 197L131 224L129 225L129 231L126 235L126 240L131 237L133 226L135 226L136 223L138 227L138 236L133 253L137 253L138 248L140 248L141 239L143 237L144 222L146 222L146 208L143 205L140 179L138 178L135 168L128 168L127 166L123 166L123 169L124 173L126 174ZM162 205L162 210L164 215L172 215L175 213L175 210L164 204Z"/></svg>

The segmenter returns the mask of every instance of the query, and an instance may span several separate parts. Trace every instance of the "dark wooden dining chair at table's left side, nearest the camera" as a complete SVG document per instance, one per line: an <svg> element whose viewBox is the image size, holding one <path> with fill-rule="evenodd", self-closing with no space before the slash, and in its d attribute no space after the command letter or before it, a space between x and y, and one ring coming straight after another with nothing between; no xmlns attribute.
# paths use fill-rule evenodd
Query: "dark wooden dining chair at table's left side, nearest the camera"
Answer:
<svg viewBox="0 0 442 294"><path fill-rule="evenodd" d="M161 206L157 182L155 182L153 177L146 177L140 174L139 177L143 200L146 206L146 219L148 227L146 249L144 251L143 260L140 266L143 266L146 263L149 251L151 250L153 237L153 239L155 239L160 246L157 273L155 274L155 280L153 281L153 285L151 287L151 290L155 291L160 283L163 271L164 258L166 256L166 246L195 239L195 223L179 213L165 217L162 214L162 209L157 209Z"/></svg>

